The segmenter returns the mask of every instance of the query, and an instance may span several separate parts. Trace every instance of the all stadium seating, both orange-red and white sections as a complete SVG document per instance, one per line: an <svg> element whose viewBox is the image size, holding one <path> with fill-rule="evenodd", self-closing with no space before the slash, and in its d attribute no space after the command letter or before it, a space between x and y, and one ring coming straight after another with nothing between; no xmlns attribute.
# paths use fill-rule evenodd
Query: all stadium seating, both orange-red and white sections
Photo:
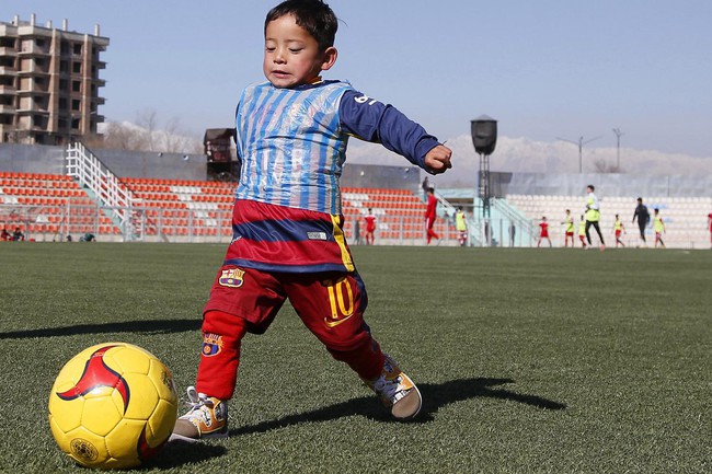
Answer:
<svg viewBox="0 0 712 474"><path fill-rule="evenodd" d="M140 240L164 242L229 242L232 236L231 216L234 183L124 177L120 186L131 196L134 223L140 228ZM582 196L508 195L506 200L533 226L547 216L554 246L563 246L565 209L577 221L583 213ZM635 197L600 198L601 231L608 246L613 246L613 220L618 213L627 229L623 242L640 244L638 226L631 223ZM708 248L707 222L710 197L647 197L651 210L661 210L665 221L668 247ZM377 216L377 244L422 245L425 242L425 205L407 189L367 187L343 188L344 231L352 244L358 242L356 223L371 208ZM36 241L74 240L93 233L102 241L130 240L122 223L101 199L71 176L45 173L0 172L0 226L12 231L19 227ZM449 219L436 222L436 232L446 245L455 245L457 232ZM363 232L361 232L363 239ZM647 245L654 233L648 226Z"/></svg>

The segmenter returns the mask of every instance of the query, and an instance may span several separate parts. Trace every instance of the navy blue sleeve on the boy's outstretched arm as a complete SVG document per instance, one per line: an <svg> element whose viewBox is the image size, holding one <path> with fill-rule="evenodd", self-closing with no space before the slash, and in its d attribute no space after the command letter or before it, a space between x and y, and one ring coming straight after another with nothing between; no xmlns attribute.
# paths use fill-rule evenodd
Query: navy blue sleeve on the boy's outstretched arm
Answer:
<svg viewBox="0 0 712 474"><path fill-rule="evenodd" d="M349 90L341 99L342 129L361 140L381 143L425 167L425 154L439 144L437 138L407 118L398 108L361 92Z"/></svg>

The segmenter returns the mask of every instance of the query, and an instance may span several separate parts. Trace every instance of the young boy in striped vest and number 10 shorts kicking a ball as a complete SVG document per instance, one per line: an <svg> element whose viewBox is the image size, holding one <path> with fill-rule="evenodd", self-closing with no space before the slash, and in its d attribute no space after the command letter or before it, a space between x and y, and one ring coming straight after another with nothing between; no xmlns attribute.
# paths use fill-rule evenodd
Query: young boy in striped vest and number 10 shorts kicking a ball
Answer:
<svg viewBox="0 0 712 474"><path fill-rule="evenodd" d="M417 388L364 321L367 294L343 233L338 178L349 135L381 142L432 174L450 167L451 151L394 107L321 79L336 61L336 28L321 0L287 0L267 13L267 82L249 85L237 111L243 164L233 238L204 309L192 408L172 439L228 435L242 337L264 333L287 299L394 418L411 419L421 408Z"/></svg>

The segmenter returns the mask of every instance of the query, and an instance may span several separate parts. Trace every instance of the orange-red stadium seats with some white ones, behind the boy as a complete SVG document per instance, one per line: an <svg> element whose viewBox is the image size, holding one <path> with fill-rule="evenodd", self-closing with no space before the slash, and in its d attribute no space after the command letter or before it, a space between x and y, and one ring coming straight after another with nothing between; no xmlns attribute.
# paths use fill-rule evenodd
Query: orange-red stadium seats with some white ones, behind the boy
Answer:
<svg viewBox="0 0 712 474"><path fill-rule="evenodd" d="M234 183L125 177L143 240L168 242L227 242L232 236ZM344 232L355 242L356 222L371 208L378 216L377 243L424 241L425 205L410 190L344 188ZM92 233L99 240L122 241L122 229L111 212L70 176L0 172L0 222L20 227L28 239L76 240ZM445 219L436 232L446 242L457 235Z"/></svg>

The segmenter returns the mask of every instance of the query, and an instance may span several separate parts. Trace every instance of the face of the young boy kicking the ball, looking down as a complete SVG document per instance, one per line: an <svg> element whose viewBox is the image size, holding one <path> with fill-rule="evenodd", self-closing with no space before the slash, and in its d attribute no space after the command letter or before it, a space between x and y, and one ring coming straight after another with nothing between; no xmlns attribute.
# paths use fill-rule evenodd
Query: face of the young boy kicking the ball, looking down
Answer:
<svg viewBox="0 0 712 474"><path fill-rule="evenodd" d="M294 88L313 81L336 60L336 48L325 51L292 15L267 24L262 65L265 77L275 88Z"/></svg>

